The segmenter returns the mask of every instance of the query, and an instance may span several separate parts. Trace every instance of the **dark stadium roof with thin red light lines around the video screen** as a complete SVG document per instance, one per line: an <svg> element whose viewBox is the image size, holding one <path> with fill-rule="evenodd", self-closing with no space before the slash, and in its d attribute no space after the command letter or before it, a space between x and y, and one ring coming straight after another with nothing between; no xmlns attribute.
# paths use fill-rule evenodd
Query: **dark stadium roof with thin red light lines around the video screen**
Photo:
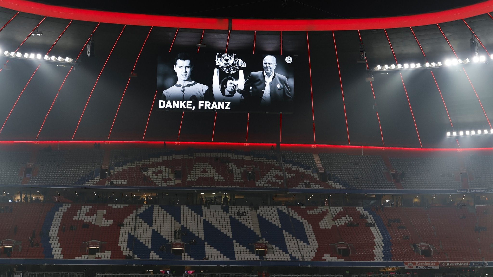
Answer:
<svg viewBox="0 0 493 277"><path fill-rule="evenodd" d="M275 129L280 129L279 125L285 124L286 121L289 122L289 125L298 128L299 132L295 131L297 130L295 127L292 127L291 132L299 134L293 135L289 139L286 138L286 142L310 143L316 141L317 143L383 145L383 141L387 140L388 143L386 144L388 145L454 147L458 144L455 139L444 142L445 131L452 130L455 126L462 129L490 128L488 115L493 114L493 97L490 90L491 78L488 76L491 75L491 66L482 64L475 68L473 65L468 65L462 68L463 70L436 70L433 76L429 74L429 71L415 76L402 73L402 81L398 74L386 73L391 77L385 77L375 73L376 81L370 88L369 84L363 80L366 69L361 64L355 64L355 60L359 55L360 39L364 43L370 69L376 65L396 64L396 61L400 64L424 64L426 61L444 62L446 59L456 58L456 55L459 59L471 58L469 48L471 30L474 31L476 39L480 42L479 54L489 56L488 51L491 51L493 46L493 18L488 13L493 11L493 1L491 0L474 1L474 4L464 7L460 7L459 1L449 1L440 3L440 5L424 5L423 1L418 1L415 2L414 7L409 7L409 9L400 8L395 4L392 6L379 3L379 5L371 6L370 3L367 3L366 6L346 7L337 11L328 9L323 4L320 6L311 4L312 7L308 7L301 2L289 0L286 8L283 8L281 6L282 1L275 3L260 1L251 3L251 5L262 6L260 9L239 5L208 11L206 6L202 5L191 7L189 13L183 14L157 12L145 5L132 10L142 14L122 14L115 12L128 12L133 7L121 4L117 8L113 8L105 7L102 4L99 6L101 10L98 11L93 10L96 7L94 1L77 4L76 7L50 5L60 4L57 1L44 2L0 0L2 7L0 8L0 49L2 52L10 49L11 51L18 49L22 53L50 49L56 55L76 57L83 49L89 35L98 26L94 33L98 54L94 60L83 60L84 67L87 66L86 69L93 72L86 74L84 69L78 69L79 71L73 77L67 78L66 85L68 87L65 89L85 89L83 94L74 96L67 94L67 91L60 87L66 78L66 72L60 73L56 77L54 75L43 76L44 79L41 79L37 74L39 79L36 79L36 76L33 77L34 74L32 75L35 67L29 70L20 67L15 69L17 62L10 61L9 64L14 68L11 68L9 73L5 73L5 70L0 71L2 82L8 84L4 86L3 91L5 93L0 104L0 124L4 125L4 129L2 127L3 132L0 131L0 139L35 139L38 136L39 139L70 139L72 134L74 139L108 138L109 127L112 126L111 122L119 107L118 103L121 93L125 89L127 76L122 78L116 76L116 73L110 74L106 71L116 72L122 68L120 75L125 75L121 74L123 72L130 72L136 63L137 53L142 48L141 62L137 64L136 69L140 72L146 72L140 67L143 65L154 67L143 62L155 59L152 51L165 47L169 49L170 46L174 49L197 50L195 44L201 40L202 36L204 43L207 44L207 48L203 51L207 52L224 51L226 45L228 45L228 52L250 52L254 49L256 53L299 54L311 50L311 69L314 71L313 78L315 80L312 99L315 103L309 103L310 100L307 98L306 101L308 102L303 104L303 116L296 116L295 112L291 119L289 119L290 115L286 115L282 123L279 123L279 116L274 118L274 115L266 115L269 117L267 121L277 121L277 125L274 124ZM280 12L277 11L278 13L275 12L272 16L265 14L265 12L253 12L256 10L276 10L275 5L280 6ZM80 10L79 8L89 10ZM285 11L282 12L282 9ZM317 9L319 9L318 12L315 12ZM368 16L365 16L366 13L362 13L363 10L367 11ZM20 12L18 13L18 11ZM428 12L431 13L423 14ZM150 13L158 15L149 15ZM167 15L162 15L165 13ZM169 15L189 17L170 17ZM207 15L212 17L205 18ZM200 16L204 16L204 18ZM217 16L217 18L213 16ZM403 17L388 18L382 16ZM245 19L249 17L260 19ZM272 20L271 17L308 19ZM336 19L320 19L330 17ZM73 21L71 21L72 19ZM100 22L101 24L98 25ZM125 27L125 32L122 32L125 24L128 25ZM31 38L30 33L37 25L39 25L39 30L43 32L43 35ZM148 26L155 26L151 33L149 33ZM146 47L150 48L144 48L142 43L148 34L150 35ZM119 35L122 35L122 44L117 45L115 40ZM310 43L309 46L307 42ZM109 59L108 54L111 53L110 50L113 47L115 47L115 53L111 56L112 59ZM131 57L127 56L127 53L130 52L132 53ZM4 58L1 59L4 62ZM321 59L328 60L320 62ZM102 81L114 81L115 78L122 78L115 88L115 91L117 90L115 92L116 98L100 97L98 94L99 85L96 86L94 83L98 73L102 70L101 68L106 65L105 61L108 62L109 69L104 71L106 74L101 75ZM306 62L308 65L309 61ZM9 64L7 64L7 69L10 69ZM150 70L148 73L152 75L155 74L155 71ZM308 80L307 74L300 74L299 80L302 80L301 78ZM16 76L16 78L12 78L12 76ZM329 87L324 86L324 84L316 84L317 80L323 79L324 76L333 77L334 84L330 84ZM28 81L31 79L33 79L33 83L28 86ZM77 82L84 82L86 79L88 80L87 88L76 85ZM49 86L46 86L47 80L52 82ZM143 79L141 80L143 81ZM353 80L358 80L357 86L354 84L352 87L355 83ZM360 82L361 80L363 81ZM7 81L11 81L11 83ZM298 84L301 85L301 83ZM41 100L37 99L36 96L28 98L19 95L24 91L27 95L34 94L33 88L42 88L41 90L46 88L47 92L50 92L49 97ZM105 88L107 90L114 88L114 86L106 85ZM143 94L147 98L152 99L154 96L155 88L152 89L151 85L145 86L141 83L141 87L138 88L136 83L135 87L129 88L129 90L139 89L146 91ZM303 89L309 91L310 86L305 85ZM363 89L364 96L358 94ZM56 94L56 91L59 90L63 104L67 103L68 98L72 98L68 102L73 105L65 107L62 107L63 104L60 104L59 107L56 104L52 105L56 102L53 99L55 95L51 94L53 92ZM329 99L332 103L323 106L327 110L320 106L321 102L317 103L318 100L327 97L324 90L330 91ZM340 99L341 90L346 96L344 108L347 110L343 109L343 101ZM372 108L374 104L374 99L371 96L372 90L376 95L380 123L376 122ZM96 97L96 100L91 99L90 103L88 100L89 92L94 92ZM63 95L64 93L65 95ZM37 97L41 96L38 95ZM109 100L112 100L111 103L108 102ZM89 106L86 104L88 113L84 114L84 120L81 122L80 112L85 110L86 101L89 103ZM102 104L96 104L95 101L101 101ZM80 104L81 106L79 106ZM144 127L147 126L148 114L136 115L136 111L140 111L140 108L132 109L129 106L126 107L125 102L122 104L121 115L118 116L125 120L121 123L116 120L116 135L111 138L142 139ZM148 112L149 101L140 101L134 104L135 106L141 105L142 110L145 107ZM53 107L53 115L48 117L46 112L51 110L50 106ZM308 106L309 108L307 108ZM412 110L410 110L411 106ZM313 110L315 110L313 112L315 124L313 124L312 118ZM77 114L69 115L71 111L77 111ZM154 117L156 118L153 119ZM150 125L151 129L158 130L159 122L163 117L162 114L153 114L147 124ZM150 137L146 139L176 139L175 133L179 132L178 126L181 126L182 114L166 117L174 122L173 128L177 130L174 130L172 135L165 131L151 132ZM247 125L246 118L240 118L240 115L232 117L241 119L241 132L244 133L245 130L243 129ZM346 120L344 120L345 117ZM215 127L216 120L213 114L211 116L210 114L194 116L193 118L192 120L200 118L201 120L213 121ZM326 118L330 118L331 121L337 119L337 122L323 125ZM342 120L340 120L341 118ZM266 119L259 116L255 120L264 122ZM94 130L92 124L96 122L104 125L105 127L102 128L104 130L100 131L99 128ZM78 126L80 123L82 124L81 132L84 135L76 137L73 131L75 125ZM250 124L254 125L255 123L250 120ZM132 127L128 127L129 125ZM196 126L191 124L188 127L186 125L183 126L184 130L181 132L191 134L188 140L210 140L210 133L214 132L211 123L211 128L208 127L211 130L207 131L207 135L196 137L195 133L202 133L202 131L197 131ZM41 126L46 128L43 129L43 133L40 129ZM63 128L60 126L65 126L67 130L62 130ZM315 132L312 132L312 126L313 129L318 130L317 135L320 136L320 139L314 138ZM382 132L379 130L379 126L382 127ZM221 132L220 130L221 128L219 128L219 132ZM219 138L216 136L216 139L222 141L228 139L231 141L245 140L244 134L237 138L228 136L230 132L237 132L238 130L223 130L224 136L219 136ZM271 137L264 136L264 133L270 131L271 128L257 130L258 138L253 140L279 140L280 134ZM289 127L282 130L282 132L284 131L289 133ZM129 135L131 132L138 133L138 135ZM167 137L168 135L169 137ZM352 141L350 141L350 135ZM489 143L491 144L490 138L483 141L463 141L461 146L482 146Z"/></svg>

